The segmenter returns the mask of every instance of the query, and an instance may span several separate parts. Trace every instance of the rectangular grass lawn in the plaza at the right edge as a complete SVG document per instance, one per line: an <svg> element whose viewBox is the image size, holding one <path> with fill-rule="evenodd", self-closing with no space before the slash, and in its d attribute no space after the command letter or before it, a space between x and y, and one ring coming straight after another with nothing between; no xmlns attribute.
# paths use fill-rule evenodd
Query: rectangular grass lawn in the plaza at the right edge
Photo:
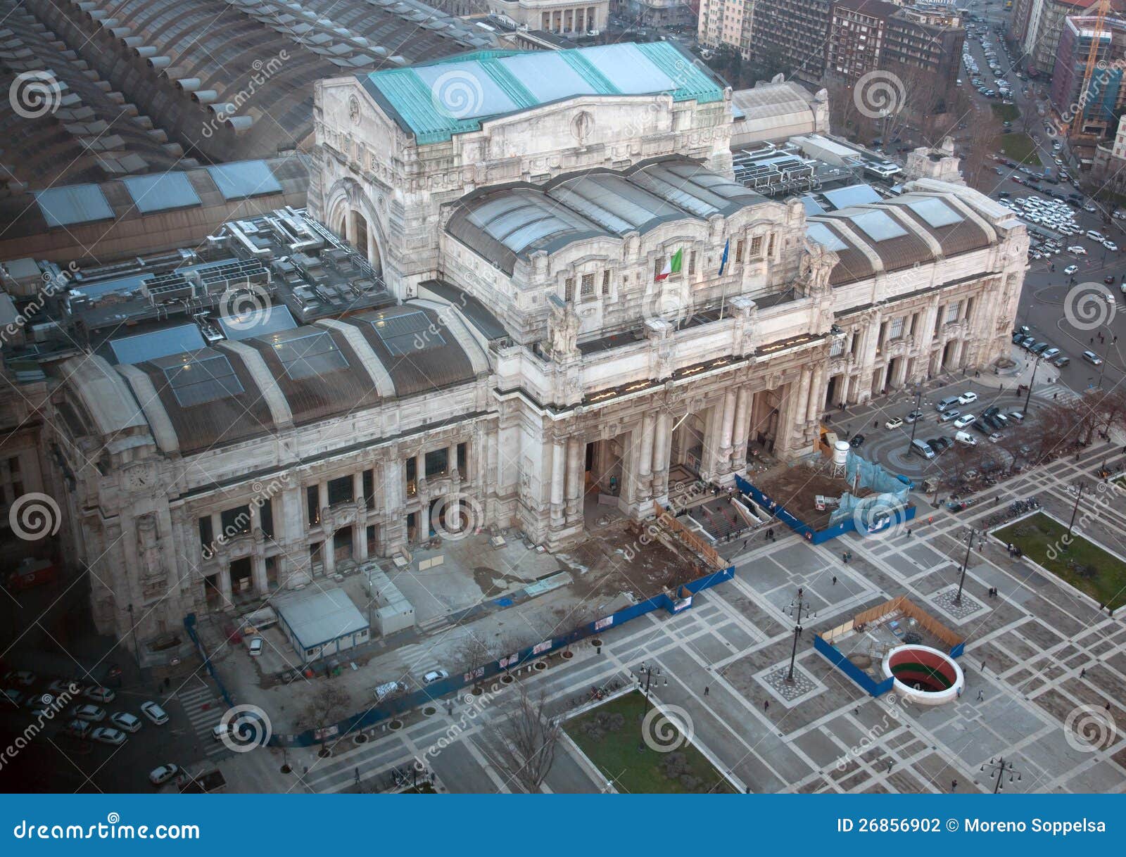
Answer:
<svg viewBox="0 0 1126 857"><path fill-rule="evenodd" d="M1080 511L1082 516L1082 510ZM1017 545L1030 560L1066 580L1110 608L1126 604L1126 562L1093 545L1072 532L1071 544L1064 550L1062 538L1067 527L1043 512L997 530L993 535L1006 544ZM1052 557L1055 559L1052 559ZM1087 566L1081 573L1069 563Z"/></svg>

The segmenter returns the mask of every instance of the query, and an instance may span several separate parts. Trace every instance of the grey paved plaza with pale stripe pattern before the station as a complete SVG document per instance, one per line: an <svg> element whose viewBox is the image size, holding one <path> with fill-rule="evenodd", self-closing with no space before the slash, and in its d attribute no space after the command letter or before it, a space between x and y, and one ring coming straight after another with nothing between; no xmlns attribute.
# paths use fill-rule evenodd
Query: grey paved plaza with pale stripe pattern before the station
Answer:
<svg viewBox="0 0 1126 857"><path fill-rule="evenodd" d="M625 686L642 662L659 667L655 698L682 708L695 742L756 793L948 792L954 780L958 792L992 791L995 780L981 767L999 757L1020 775L1006 779L1008 792L1120 792L1126 611L1109 617L988 537L984 550L981 541L974 545L962 604L954 604L965 527L992 514L994 492L1001 503L1036 496L1063 517L1074 502L1067 486L1090 479L1108 449L1094 446L1079 462L1061 459L1017 476L957 515L917 496L910 536L850 534L817 546L795 535L774 544L759 537L733 557L735 579L697 596L692 609L643 616L606 634L600 654L584 644L570 661L526 680L565 715L591 687ZM1089 517L1084 533L1126 554L1126 502L1112 498ZM848 564L844 551L852 553ZM787 609L798 587L815 616L803 616L789 684ZM966 689L953 704L872 698L813 648L815 633L900 595L966 637L959 659ZM280 751L245 753L229 764L229 779L251 789L384 791L393 768L418 758L452 792L517 791L493 762L502 696L473 704L457 698L448 714L446 707L419 713L363 744L346 738L327 759L291 750L297 764L288 776L277 773ZM1111 720L1116 727L1107 726ZM544 789L611 791L611 780L561 747Z"/></svg>

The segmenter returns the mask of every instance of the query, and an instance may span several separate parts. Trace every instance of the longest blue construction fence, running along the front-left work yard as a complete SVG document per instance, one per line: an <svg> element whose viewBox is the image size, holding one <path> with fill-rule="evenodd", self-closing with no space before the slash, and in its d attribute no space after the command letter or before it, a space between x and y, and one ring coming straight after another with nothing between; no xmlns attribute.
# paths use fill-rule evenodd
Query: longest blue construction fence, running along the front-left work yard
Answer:
<svg viewBox="0 0 1126 857"><path fill-rule="evenodd" d="M435 700L454 694L464 687L477 685L495 676L501 676L525 667L530 667L535 661L538 661L553 652L557 652L561 649L573 645L581 640L605 633L611 627L624 625L631 619L644 616L646 613L652 613L653 610L659 609L668 610L670 614L682 613L692 606L692 597L696 593L701 592L705 589L711 589L717 583L731 580L733 577L735 577L735 566L729 565L722 571L706 574L703 578L697 578L690 583L685 583L678 587L676 593L672 596L661 592L660 595L655 595L644 601L638 601L637 604L624 607L617 613L611 613L609 616L580 625L568 634L545 640L536 645L528 646L527 649L521 649L506 658L501 658L500 660L490 661L489 663L477 667L470 672L465 672L459 676L449 676L448 678L427 685L425 688L419 690L385 699L363 714L346 717L336 725L329 726L324 730L306 730L305 732L297 734L275 734L270 738L269 743L274 747L283 744L291 747L309 747L311 744L319 743L320 741L329 740L338 734L356 733L370 729L372 726L393 720L400 714L419 708L427 704L432 704ZM331 681L331 679L327 680Z"/></svg>

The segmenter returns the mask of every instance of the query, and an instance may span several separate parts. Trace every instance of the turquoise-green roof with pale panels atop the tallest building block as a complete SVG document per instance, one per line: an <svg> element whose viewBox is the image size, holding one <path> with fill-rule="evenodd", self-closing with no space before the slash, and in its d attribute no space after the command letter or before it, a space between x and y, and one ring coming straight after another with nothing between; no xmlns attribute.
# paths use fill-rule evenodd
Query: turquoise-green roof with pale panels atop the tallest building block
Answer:
<svg viewBox="0 0 1126 857"><path fill-rule="evenodd" d="M670 93L723 100L723 83L670 42L569 51L477 51L406 69L358 75L420 143L479 131L484 119L581 95Z"/></svg>

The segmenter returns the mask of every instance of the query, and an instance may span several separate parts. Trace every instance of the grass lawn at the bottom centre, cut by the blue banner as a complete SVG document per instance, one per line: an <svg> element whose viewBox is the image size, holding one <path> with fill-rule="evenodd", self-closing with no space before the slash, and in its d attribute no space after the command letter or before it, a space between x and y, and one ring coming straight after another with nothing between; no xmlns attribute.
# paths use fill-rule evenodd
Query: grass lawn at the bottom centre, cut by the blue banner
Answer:
<svg viewBox="0 0 1126 857"><path fill-rule="evenodd" d="M732 789L727 780L690 743L683 743L671 752L659 752L647 746L644 750L637 749L642 743L642 721L650 707L645 697L635 690L566 721L563 727L595 767L607 779L614 780L619 792L730 794ZM663 732L662 724L674 730L678 739L681 738L671 721L659 715L651 722L653 729L650 733L654 730ZM673 776L668 776L669 773Z"/></svg>

